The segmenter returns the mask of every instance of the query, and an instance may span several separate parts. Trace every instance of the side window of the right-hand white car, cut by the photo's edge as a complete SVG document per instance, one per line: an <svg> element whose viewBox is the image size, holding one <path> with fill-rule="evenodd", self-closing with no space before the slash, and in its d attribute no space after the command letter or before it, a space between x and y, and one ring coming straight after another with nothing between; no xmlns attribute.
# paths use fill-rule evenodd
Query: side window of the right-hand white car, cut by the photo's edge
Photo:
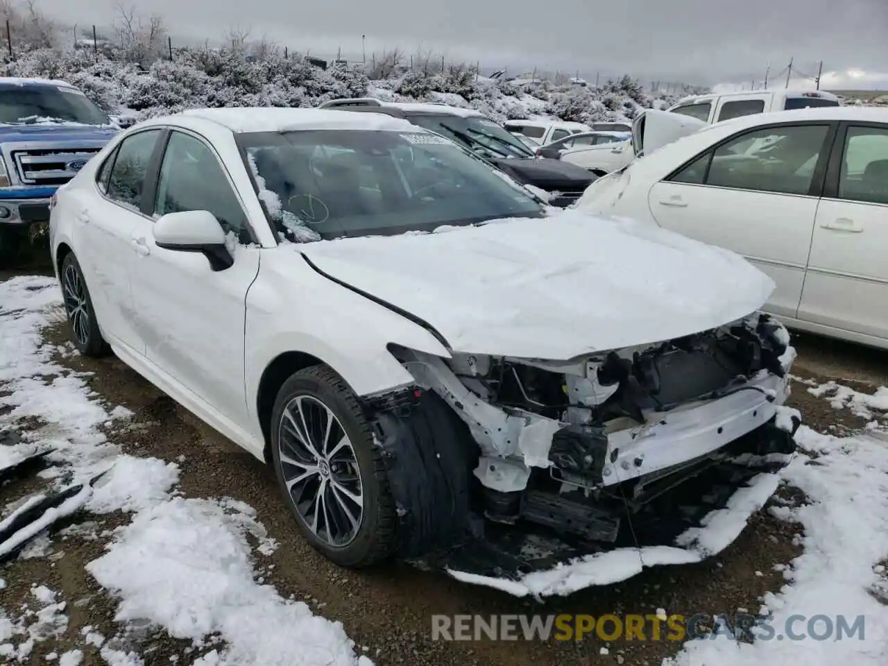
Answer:
<svg viewBox="0 0 888 666"><path fill-rule="evenodd" d="M849 127L844 140L838 196L888 204L888 127Z"/></svg>

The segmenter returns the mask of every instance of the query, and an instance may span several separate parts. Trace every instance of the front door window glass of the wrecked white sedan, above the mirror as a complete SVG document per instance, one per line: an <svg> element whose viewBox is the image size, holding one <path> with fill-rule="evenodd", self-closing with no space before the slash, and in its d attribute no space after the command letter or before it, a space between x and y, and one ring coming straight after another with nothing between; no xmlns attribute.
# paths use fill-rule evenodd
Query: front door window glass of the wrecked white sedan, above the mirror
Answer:
<svg viewBox="0 0 888 666"><path fill-rule="evenodd" d="M185 210L209 210L226 232L249 242L246 215L216 154L202 140L174 131L163 154L155 215Z"/></svg>

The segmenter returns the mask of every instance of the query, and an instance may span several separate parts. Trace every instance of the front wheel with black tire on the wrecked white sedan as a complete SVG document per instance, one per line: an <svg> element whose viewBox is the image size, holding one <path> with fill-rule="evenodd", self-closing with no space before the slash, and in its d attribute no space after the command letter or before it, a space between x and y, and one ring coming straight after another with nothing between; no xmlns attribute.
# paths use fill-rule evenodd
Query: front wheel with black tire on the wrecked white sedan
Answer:
<svg viewBox="0 0 888 666"><path fill-rule="evenodd" d="M332 369L299 370L281 386L272 459L300 532L342 567L368 567L396 548L397 514L380 448L354 392Z"/></svg>

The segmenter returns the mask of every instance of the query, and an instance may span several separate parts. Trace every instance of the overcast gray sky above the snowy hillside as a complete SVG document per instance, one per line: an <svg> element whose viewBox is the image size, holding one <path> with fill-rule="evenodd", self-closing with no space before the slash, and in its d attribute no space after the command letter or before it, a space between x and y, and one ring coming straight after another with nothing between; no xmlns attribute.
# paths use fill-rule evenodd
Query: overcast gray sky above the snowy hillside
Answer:
<svg viewBox="0 0 888 666"><path fill-rule="evenodd" d="M644 81L751 82L795 57L831 87L888 87L888 0L123 0L161 14L173 36L218 38L251 28L291 49L361 58L400 46L480 59L489 67L541 67ZM38 0L68 23L99 25L115 0ZM850 74L849 74L850 73Z"/></svg>

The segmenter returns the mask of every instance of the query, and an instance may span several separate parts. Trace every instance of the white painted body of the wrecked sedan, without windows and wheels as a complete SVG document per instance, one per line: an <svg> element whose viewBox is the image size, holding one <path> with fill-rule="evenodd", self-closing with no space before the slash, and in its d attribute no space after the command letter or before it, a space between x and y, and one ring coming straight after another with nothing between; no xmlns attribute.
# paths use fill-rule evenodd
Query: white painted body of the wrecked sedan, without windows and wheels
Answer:
<svg viewBox="0 0 888 666"><path fill-rule="evenodd" d="M233 232L220 234L221 227L209 224L209 211L143 214L157 209L154 201L135 210L106 195L98 176L109 156L129 139L144 139L144 132L168 129L196 139L218 161L246 216L250 242ZM284 242L260 204L276 194L265 189L261 173L252 172L257 160L245 159L235 135L266 131L277 138L281 131L312 130L397 133L411 156L420 155L416 147L423 144L449 145L388 115L194 110L123 132L59 189L52 207L57 275L61 255L73 253L92 296L94 321L114 352L253 456L266 459L266 432L273 426L270 416L260 414L259 388L284 354L329 366L347 385L348 400L367 410L374 398L389 400L399 391L417 399L424 395L420 389L436 393L440 402L434 404L449 405L478 446L475 477L496 492L521 492L533 467L558 468L549 457L555 433L574 426L588 430L583 419L591 421L592 410L616 395L617 385L601 384L599 370L623 368L624 361L631 367L637 354L667 347L697 353L669 346L671 338L699 341L694 334L700 333L730 353L741 331L773 358L748 372L752 366L742 355L741 375L732 373L715 391L646 404L644 412L634 403L637 417L607 416L604 447L596 449L599 487L664 470L678 474L674 465L776 423L794 351L785 329L755 312L773 282L732 252L576 210L439 226L434 233ZM181 159L196 160L190 153ZM404 164L396 160L393 168L404 178ZM166 164L166 156L160 163ZM332 182L347 175L340 172ZM155 189L153 181L143 185L143 192ZM502 196L532 202L519 187L512 189ZM542 210L526 214L535 213ZM228 263L214 264L214 253L223 251ZM570 406L551 415L485 398L481 368L495 363L510 363L519 386L516 366L554 374L559 389L570 392ZM470 388L472 377L481 385ZM550 408L530 399L526 404ZM339 445L351 437L345 432ZM366 445L385 446L376 431ZM320 464L318 470L323 473Z"/></svg>

